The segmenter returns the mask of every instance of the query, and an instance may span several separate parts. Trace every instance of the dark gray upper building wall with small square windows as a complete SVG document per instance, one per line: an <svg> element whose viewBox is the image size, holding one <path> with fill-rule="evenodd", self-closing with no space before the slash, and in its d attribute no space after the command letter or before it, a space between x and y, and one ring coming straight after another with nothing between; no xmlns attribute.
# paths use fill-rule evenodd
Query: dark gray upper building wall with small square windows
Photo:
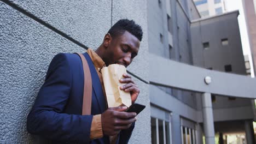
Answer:
<svg viewBox="0 0 256 144"><path fill-rule="evenodd" d="M224 65L231 64L231 73L246 74L237 15L238 11L235 11L191 24L194 65L225 71ZM228 45L223 46L221 40L225 38ZM210 47L203 49L206 42Z"/></svg>

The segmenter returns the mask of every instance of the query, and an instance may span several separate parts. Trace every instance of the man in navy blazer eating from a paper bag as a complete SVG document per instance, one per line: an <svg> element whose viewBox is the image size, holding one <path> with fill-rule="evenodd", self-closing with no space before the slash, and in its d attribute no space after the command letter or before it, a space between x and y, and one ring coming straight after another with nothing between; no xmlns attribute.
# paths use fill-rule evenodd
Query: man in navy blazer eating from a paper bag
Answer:
<svg viewBox="0 0 256 144"><path fill-rule="evenodd" d="M127 143L135 126L136 113L127 107L107 107L101 69L109 64L127 67L138 54L142 29L134 21L119 20L94 52L83 53L92 77L91 115L82 116L84 71L80 57L59 53L51 61L45 82L27 117L27 130L54 143ZM121 90L131 93L132 103L139 88L131 76L123 75Z"/></svg>

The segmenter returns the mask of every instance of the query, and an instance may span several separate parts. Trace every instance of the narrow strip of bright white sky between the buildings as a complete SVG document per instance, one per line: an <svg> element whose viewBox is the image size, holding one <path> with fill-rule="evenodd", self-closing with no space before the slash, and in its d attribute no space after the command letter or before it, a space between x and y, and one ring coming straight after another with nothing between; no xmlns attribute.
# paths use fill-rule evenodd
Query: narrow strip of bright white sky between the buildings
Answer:
<svg viewBox="0 0 256 144"><path fill-rule="evenodd" d="M240 15L237 17L237 19L238 19L239 28L240 28L243 55L249 56L249 61L251 65L251 76L254 77L252 55L251 55L251 49L249 46L247 27L246 27L246 21L245 21L245 13L243 11L243 4L242 4L243 0L225 0L225 1L226 1L225 6L227 11L239 10Z"/></svg>

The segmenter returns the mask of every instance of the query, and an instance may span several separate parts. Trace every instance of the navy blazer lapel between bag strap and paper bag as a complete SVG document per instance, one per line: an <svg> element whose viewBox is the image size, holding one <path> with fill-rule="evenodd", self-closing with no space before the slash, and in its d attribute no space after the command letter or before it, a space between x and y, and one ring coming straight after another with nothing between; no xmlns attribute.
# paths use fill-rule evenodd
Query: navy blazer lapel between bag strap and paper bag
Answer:
<svg viewBox="0 0 256 144"><path fill-rule="evenodd" d="M102 91L101 82L100 82L100 79L98 78L97 71L94 67L94 63L92 63L91 61L90 56L88 55L88 53L83 53L83 55L88 61L88 65L91 71L92 89L96 94L96 99L97 99L98 105L100 105L100 110L102 113L106 110L106 99Z"/></svg>

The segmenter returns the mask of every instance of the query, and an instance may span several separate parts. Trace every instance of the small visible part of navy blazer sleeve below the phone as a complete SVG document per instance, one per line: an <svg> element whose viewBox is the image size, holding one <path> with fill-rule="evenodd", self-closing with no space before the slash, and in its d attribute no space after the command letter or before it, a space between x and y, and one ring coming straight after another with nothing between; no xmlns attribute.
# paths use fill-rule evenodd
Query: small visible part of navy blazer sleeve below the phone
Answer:
<svg viewBox="0 0 256 144"><path fill-rule="evenodd" d="M129 129L121 130L118 143L120 144L128 143L131 138L134 127L135 127L135 122L132 123Z"/></svg>

